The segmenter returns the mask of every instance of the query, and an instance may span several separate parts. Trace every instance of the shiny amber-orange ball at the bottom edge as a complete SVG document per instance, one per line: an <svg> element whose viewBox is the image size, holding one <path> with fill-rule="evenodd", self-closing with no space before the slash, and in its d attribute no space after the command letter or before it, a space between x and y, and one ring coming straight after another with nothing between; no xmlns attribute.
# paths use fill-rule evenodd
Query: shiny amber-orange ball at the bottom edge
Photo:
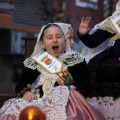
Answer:
<svg viewBox="0 0 120 120"><path fill-rule="evenodd" d="M38 107L29 106L21 111L19 120L46 120L46 116Z"/></svg>

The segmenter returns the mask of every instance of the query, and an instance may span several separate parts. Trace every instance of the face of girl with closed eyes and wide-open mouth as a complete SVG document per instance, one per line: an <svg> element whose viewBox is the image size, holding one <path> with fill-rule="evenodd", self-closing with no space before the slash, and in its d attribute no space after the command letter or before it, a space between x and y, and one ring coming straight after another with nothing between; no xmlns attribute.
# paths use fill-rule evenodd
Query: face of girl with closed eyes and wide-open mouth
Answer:
<svg viewBox="0 0 120 120"><path fill-rule="evenodd" d="M57 26L47 28L40 44L49 54L59 57L65 47L65 38L62 30Z"/></svg>

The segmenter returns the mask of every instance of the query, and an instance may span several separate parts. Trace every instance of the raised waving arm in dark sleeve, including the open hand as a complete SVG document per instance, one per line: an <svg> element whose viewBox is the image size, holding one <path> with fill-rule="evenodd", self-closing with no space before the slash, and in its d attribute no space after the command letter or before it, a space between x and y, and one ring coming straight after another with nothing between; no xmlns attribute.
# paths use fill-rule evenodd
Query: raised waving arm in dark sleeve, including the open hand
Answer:
<svg viewBox="0 0 120 120"><path fill-rule="evenodd" d="M108 31L97 29L92 35L89 34L90 31L90 21L91 17L82 18L77 35L79 39L90 48L95 48L100 45L103 41L107 40L109 37L112 37L114 34L109 33Z"/></svg>

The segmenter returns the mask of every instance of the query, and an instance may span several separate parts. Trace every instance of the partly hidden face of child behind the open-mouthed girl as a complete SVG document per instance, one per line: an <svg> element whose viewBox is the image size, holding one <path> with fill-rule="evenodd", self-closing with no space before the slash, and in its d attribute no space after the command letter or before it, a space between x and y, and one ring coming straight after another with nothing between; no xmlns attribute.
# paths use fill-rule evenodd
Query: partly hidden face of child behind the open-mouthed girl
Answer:
<svg viewBox="0 0 120 120"><path fill-rule="evenodd" d="M73 40L73 30L69 29L66 34L67 42L69 43L70 47L73 47L74 40Z"/></svg>

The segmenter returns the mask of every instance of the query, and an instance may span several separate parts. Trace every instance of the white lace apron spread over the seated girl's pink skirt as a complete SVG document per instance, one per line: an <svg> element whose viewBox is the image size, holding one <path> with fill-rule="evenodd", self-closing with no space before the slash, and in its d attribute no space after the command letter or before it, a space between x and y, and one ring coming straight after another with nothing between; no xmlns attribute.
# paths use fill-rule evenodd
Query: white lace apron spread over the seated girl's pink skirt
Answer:
<svg viewBox="0 0 120 120"><path fill-rule="evenodd" d="M46 120L66 120L66 105L69 90L66 86L51 88L43 98L28 102L24 99L9 99L1 108L3 115L14 115L16 120L20 112L27 106L37 106L46 114Z"/></svg>

